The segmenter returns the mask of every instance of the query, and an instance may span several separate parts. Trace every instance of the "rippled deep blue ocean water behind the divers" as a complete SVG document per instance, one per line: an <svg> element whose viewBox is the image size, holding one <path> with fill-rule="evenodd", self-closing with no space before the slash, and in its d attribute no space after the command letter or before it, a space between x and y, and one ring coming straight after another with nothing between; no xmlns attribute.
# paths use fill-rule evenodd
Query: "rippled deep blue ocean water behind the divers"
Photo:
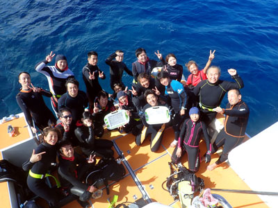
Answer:
<svg viewBox="0 0 278 208"><path fill-rule="evenodd" d="M0 0L0 5L0 117L20 112L15 101L20 71L31 73L33 85L48 89L34 66L50 51L67 56L85 90L81 70L88 51L99 53L99 68L108 76L108 55L124 50L131 69L134 51L144 47L149 58L159 50L164 57L174 53L183 66L195 60L200 68L209 50L216 50L213 65L221 67L221 78L229 80L227 69L234 68L245 82L241 92L251 110L247 132L256 135L278 120L277 1ZM131 80L124 74L124 83ZM108 78L100 83L111 92ZM227 98L222 107L225 103Z"/></svg>

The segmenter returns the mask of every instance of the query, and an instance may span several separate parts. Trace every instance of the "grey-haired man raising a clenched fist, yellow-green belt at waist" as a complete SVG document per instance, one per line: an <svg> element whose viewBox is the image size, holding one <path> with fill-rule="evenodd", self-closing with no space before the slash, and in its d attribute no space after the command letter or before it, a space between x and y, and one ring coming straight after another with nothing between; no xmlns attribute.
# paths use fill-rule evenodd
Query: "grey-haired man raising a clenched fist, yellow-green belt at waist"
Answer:
<svg viewBox="0 0 278 208"><path fill-rule="evenodd" d="M228 69L229 75L235 82L220 80L220 68L209 67L206 71L207 80L202 80L194 88L193 92L199 96L199 106L201 107L201 118L206 126L208 126L217 112L214 111L215 107L220 106L222 99L226 92L230 89L241 89L244 87L243 80L238 76L236 69Z"/></svg>

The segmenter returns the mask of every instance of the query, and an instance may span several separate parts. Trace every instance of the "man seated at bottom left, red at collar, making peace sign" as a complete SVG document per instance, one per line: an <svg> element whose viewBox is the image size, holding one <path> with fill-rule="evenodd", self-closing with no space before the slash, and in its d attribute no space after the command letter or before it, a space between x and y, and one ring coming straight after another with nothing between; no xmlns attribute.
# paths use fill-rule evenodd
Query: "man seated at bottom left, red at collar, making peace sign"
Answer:
<svg viewBox="0 0 278 208"><path fill-rule="evenodd" d="M95 166L95 156L90 155L86 160L78 153L74 153L70 141L62 141L59 145L59 178L65 191L70 191L76 196L82 207L89 207L87 202L92 193L97 190L94 186L83 183L86 174L90 173Z"/></svg>

